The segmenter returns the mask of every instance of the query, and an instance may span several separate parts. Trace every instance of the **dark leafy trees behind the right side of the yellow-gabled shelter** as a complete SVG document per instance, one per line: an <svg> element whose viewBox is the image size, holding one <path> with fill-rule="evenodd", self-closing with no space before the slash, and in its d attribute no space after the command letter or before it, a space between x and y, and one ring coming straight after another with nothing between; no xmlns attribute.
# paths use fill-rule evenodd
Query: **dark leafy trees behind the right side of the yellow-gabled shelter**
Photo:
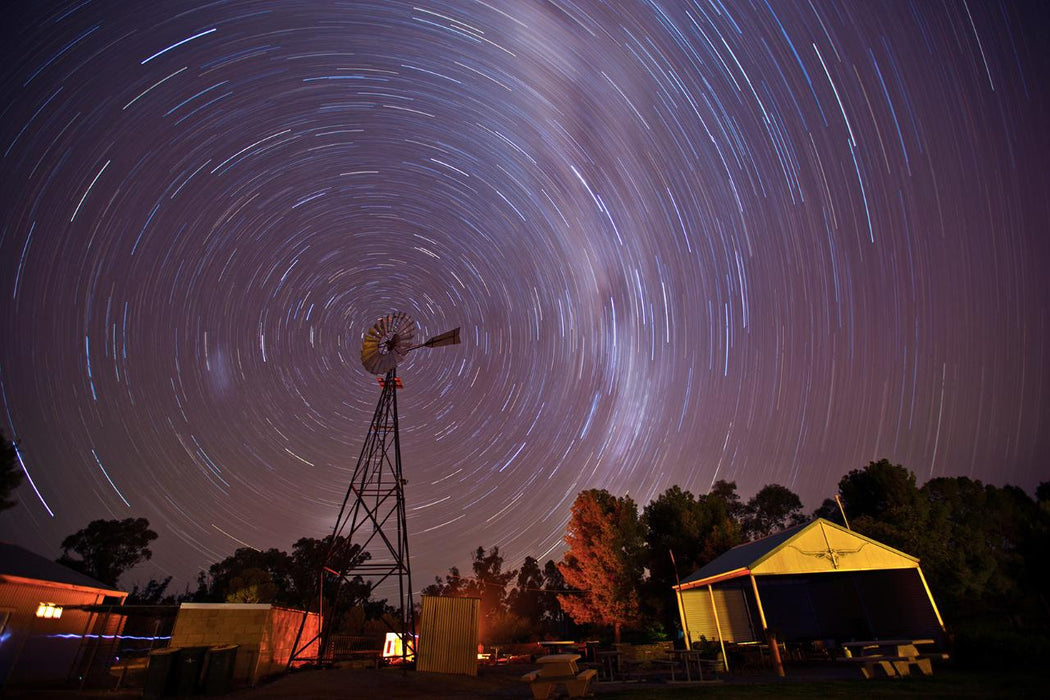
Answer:
<svg viewBox="0 0 1050 700"><path fill-rule="evenodd" d="M855 530L919 557L949 628L1047 619L1050 509L1020 488L966 476L919 488L915 474L882 460L850 471L839 490Z"/></svg>

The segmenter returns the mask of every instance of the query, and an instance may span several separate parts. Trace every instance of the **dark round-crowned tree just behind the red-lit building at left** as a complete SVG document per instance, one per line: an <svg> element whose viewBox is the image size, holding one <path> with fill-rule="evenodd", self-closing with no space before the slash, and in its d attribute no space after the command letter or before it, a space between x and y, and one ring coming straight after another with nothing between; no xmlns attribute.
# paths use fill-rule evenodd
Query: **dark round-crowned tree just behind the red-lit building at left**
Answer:
<svg viewBox="0 0 1050 700"><path fill-rule="evenodd" d="M156 533L149 529L145 517L92 521L62 540L63 554L58 561L116 587L121 574L152 558L149 543L154 539ZM80 558L70 557L70 552Z"/></svg>

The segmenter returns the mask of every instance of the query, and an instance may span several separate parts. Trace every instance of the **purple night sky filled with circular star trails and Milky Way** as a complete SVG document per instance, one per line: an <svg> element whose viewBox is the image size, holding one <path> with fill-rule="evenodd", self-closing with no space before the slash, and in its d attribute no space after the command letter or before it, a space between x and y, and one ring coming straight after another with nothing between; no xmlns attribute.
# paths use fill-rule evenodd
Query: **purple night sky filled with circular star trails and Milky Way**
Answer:
<svg viewBox="0 0 1050 700"><path fill-rule="evenodd" d="M0 425L47 556L331 531L401 311L416 588L576 493L1050 478L1042 0L19 2Z"/></svg>

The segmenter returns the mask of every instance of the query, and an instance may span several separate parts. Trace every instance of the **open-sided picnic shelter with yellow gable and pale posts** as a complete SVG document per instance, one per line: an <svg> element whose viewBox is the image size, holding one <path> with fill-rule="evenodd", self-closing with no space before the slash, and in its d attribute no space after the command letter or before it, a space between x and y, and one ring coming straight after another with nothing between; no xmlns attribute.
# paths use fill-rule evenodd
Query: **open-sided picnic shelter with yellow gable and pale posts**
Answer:
<svg viewBox="0 0 1050 700"><path fill-rule="evenodd" d="M734 547L678 586L690 645L944 639L919 559L824 518Z"/></svg>

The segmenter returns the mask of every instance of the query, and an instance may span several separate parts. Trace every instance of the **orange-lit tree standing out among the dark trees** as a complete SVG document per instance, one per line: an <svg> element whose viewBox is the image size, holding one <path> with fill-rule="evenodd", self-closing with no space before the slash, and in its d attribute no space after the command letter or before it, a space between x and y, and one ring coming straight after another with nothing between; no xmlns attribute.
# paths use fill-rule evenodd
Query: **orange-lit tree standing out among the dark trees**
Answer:
<svg viewBox="0 0 1050 700"><path fill-rule="evenodd" d="M645 527L637 507L604 489L582 491L565 542L569 549L559 570L579 592L560 595L562 609L576 622L612 627L620 642L621 630L638 619Z"/></svg>

